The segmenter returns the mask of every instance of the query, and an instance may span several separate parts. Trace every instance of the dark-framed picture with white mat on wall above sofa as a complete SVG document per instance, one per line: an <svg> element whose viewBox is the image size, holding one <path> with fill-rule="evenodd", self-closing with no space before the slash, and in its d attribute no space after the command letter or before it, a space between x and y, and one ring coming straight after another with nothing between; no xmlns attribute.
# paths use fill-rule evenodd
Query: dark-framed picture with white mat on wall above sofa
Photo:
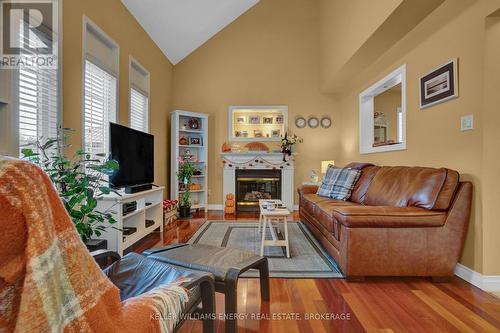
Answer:
<svg viewBox="0 0 500 333"><path fill-rule="evenodd" d="M420 108L458 97L458 60L452 59L420 78Z"/></svg>

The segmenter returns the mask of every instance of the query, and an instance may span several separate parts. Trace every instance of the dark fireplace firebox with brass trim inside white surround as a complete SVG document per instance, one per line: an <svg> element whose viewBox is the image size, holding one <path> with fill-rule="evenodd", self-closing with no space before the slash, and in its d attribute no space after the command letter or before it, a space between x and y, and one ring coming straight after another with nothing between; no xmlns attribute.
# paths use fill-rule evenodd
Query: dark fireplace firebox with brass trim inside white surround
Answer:
<svg viewBox="0 0 500 333"><path fill-rule="evenodd" d="M281 170L236 170L236 211L259 210L259 199L281 199Z"/></svg>

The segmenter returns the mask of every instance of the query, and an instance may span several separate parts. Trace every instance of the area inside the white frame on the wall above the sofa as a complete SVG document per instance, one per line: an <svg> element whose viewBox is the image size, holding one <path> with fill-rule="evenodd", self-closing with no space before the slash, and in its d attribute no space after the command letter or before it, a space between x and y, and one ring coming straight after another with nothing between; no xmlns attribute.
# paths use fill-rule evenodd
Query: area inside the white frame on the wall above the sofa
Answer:
<svg viewBox="0 0 500 333"><path fill-rule="evenodd" d="M373 98L373 147L403 142L401 83Z"/></svg>

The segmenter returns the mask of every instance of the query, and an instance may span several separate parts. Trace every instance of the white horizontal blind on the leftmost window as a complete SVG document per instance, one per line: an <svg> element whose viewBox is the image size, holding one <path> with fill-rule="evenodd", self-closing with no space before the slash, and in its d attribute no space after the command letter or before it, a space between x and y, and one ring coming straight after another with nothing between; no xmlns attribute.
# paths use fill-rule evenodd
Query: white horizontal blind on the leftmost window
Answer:
<svg viewBox="0 0 500 333"><path fill-rule="evenodd" d="M20 45L23 55L36 56L33 51L25 48L34 47L39 43L36 35L24 36L24 29L20 30ZM57 39L54 48L57 48ZM18 130L19 148L23 149L28 143L38 138L57 137L59 126L58 108L58 70L57 68L41 68L33 64L22 65L18 72Z"/></svg>

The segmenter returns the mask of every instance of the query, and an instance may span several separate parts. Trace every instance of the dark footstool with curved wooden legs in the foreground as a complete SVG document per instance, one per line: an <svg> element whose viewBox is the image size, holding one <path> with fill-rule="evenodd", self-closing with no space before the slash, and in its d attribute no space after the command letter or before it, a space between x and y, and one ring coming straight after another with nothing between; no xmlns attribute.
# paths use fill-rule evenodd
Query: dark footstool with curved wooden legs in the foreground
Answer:
<svg viewBox="0 0 500 333"><path fill-rule="evenodd" d="M215 291L225 295L226 333L237 331L237 286L241 274L251 268L259 270L260 295L269 300L269 268L267 258L252 252L205 244L173 244L150 249L147 257L169 264L212 273Z"/></svg>

